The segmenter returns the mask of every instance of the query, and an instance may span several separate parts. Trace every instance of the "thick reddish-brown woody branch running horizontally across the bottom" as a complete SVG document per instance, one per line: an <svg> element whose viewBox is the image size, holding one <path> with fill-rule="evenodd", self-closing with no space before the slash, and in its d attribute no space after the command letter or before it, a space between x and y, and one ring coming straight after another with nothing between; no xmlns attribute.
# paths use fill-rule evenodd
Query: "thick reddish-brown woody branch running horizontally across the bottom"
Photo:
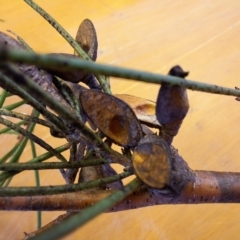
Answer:
<svg viewBox="0 0 240 240"><path fill-rule="evenodd" d="M123 211L162 204L240 203L240 173L196 171L180 194L147 189L134 192L108 210ZM112 190L81 191L33 197L0 197L0 210L82 210L113 193Z"/></svg>

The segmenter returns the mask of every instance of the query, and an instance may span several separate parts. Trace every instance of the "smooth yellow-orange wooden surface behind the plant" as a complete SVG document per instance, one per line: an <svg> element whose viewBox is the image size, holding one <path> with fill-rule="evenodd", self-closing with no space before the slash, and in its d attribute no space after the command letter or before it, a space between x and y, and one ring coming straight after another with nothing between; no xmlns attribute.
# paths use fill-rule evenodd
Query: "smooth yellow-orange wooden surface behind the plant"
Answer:
<svg viewBox="0 0 240 240"><path fill-rule="evenodd" d="M1 31L11 29L36 52L73 50L23 1L1 0ZM166 74L180 64L189 79L240 86L240 1L102 0L37 1L72 36L80 22L93 21L98 61ZM111 79L113 93L156 100L158 86ZM233 97L189 91L191 108L173 142L193 169L240 171L239 111ZM27 107L22 108L28 112ZM37 133L59 146L44 128ZM15 137L1 136L0 154ZM44 150L38 149L38 154ZM23 159L31 159L28 147ZM41 173L41 184L62 184L59 172ZM12 185L33 185L34 174L20 174ZM103 214L64 239L240 239L240 205L157 206ZM1 212L0 239L21 239L36 229L35 212ZM43 224L59 212L44 212Z"/></svg>

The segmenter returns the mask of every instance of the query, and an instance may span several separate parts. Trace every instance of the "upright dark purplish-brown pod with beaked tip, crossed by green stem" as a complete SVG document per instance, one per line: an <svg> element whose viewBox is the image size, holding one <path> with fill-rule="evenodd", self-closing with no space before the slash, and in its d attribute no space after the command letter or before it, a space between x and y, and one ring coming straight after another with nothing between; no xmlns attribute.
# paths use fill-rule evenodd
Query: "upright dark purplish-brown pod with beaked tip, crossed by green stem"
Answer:
<svg viewBox="0 0 240 240"><path fill-rule="evenodd" d="M171 68L168 73L171 76L185 78L188 72L184 72L180 66ZM172 143L177 135L189 109L187 91L181 86L172 86L164 83L158 93L156 115L159 123L163 126L162 137Z"/></svg>

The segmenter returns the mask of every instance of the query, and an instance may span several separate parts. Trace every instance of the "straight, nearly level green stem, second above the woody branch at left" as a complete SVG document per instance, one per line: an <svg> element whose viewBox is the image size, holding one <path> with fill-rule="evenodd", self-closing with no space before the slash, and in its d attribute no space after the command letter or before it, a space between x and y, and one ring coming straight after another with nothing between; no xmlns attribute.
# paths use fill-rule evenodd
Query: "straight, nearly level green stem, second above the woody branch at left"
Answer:
<svg viewBox="0 0 240 240"><path fill-rule="evenodd" d="M104 158L88 159L81 162L47 162L47 163L2 163L0 170L3 171L25 171L25 170L43 170L43 169L64 169L64 168L80 168L87 166L95 166L100 164L109 164Z"/></svg>

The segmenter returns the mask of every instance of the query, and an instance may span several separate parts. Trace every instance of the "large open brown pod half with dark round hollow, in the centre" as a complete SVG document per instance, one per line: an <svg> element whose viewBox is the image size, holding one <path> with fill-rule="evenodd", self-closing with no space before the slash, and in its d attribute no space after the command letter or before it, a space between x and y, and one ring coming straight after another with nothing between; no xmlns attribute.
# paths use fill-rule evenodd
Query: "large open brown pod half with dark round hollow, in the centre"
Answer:
<svg viewBox="0 0 240 240"><path fill-rule="evenodd" d="M97 90L85 90L80 93L80 102L92 123L115 143L134 147L142 138L140 123L122 100Z"/></svg>

